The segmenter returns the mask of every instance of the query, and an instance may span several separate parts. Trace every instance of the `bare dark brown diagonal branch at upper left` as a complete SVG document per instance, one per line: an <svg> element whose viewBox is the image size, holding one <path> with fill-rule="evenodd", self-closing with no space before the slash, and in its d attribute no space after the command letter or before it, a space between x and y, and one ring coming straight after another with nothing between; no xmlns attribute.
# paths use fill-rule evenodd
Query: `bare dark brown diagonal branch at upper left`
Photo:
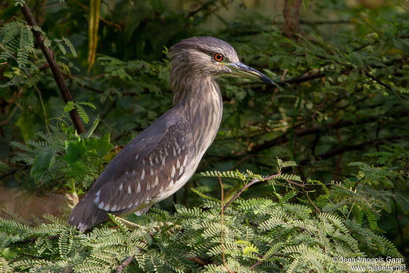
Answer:
<svg viewBox="0 0 409 273"><path fill-rule="evenodd" d="M27 23L31 27L37 27L37 22L34 19L33 14L31 13L29 7L27 6L26 3L22 4L20 6L20 10L24 17L26 18ZM70 90L68 90L64 78L62 77L62 73L60 68L58 67L57 60L54 57L54 53L51 50L51 48L44 46L44 37L42 36L41 32L34 30L31 28L31 31L34 34L34 37L37 41L38 46L40 47L42 54L47 59L48 64L50 65L50 69L53 72L53 77L55 82L57 83L58 89L61 92L62 98L64 99L64 102L67 103L69 101L73 100L73 97L70 93ZM85 133L85 128L84 124L81 121L80 116L78 115L77 109L73 109L70 111L70 116L73 121L74 127L77 130L78 134Z"/></svg>

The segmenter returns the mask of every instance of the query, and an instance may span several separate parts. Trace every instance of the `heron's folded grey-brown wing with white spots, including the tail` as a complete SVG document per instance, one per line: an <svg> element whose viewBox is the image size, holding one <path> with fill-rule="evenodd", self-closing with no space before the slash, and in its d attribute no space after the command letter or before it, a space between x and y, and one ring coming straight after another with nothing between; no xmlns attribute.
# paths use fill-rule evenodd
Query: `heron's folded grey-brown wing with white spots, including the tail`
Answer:
<svg viewBox="0 0 409 273"><path fill-rule="evenodd" d="M193 175L194 158L188 121L173 108L112 159L73 209L69 223L85 230L107 220L107 213L138 211L166 198Z"/></svg>

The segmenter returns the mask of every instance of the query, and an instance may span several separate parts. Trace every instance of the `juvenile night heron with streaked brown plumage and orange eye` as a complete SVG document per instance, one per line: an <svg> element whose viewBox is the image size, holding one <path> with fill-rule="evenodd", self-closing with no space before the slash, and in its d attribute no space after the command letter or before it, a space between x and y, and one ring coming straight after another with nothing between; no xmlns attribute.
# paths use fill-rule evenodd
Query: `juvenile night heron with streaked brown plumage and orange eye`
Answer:
<svg viewBox="0 0 409 273"><path fill-rule="evenodd" d="M107 213L141 215L192 177L219 129L223 104L217 78L273 82L239 62L236 51L213 37L182 40L169 50L174 107L130 141L74 207L69 223L80 230Z"/></svg>

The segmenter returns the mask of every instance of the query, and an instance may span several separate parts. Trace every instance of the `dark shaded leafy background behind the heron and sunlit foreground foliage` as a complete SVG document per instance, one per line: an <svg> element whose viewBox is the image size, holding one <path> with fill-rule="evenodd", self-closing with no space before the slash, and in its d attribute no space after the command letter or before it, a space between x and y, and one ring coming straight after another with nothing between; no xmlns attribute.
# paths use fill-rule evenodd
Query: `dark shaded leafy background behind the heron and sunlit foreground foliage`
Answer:
<svg viewBox="0 0 409 273"><path fill-rule="evenodd" d="M197 174L156 209L172 214L173 203L203 205L190 188L220 199L218 179L200 172L269 175L277 172L277 157L294 160L298 165L286 173L308 186L286 202L312 207L307 192L322 213L384 235L409 257L407 2L31 1L76 101L71 105L64 105L18 3L0 4L0 205L25 218L64 217L67 203L86 191L120 145L172 107L167 49L210 35L228 41L242 62L277 85L219 80L219 133ZM101 18L94 31L92 16ZM87 137L72 127L67 111L74 106ZM255 184L241 197L277 201L295 191L272 185ZM223 186L229 199L243 181L227 176Z"/></svg>

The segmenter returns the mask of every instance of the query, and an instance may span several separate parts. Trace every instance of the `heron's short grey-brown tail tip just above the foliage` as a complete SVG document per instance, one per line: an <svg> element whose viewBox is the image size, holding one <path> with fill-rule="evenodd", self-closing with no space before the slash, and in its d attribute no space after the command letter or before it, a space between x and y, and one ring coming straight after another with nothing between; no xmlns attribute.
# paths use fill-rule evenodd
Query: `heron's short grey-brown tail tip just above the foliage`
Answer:
<svg viewBox="0 0 409 273"><path fill-rule="evenodd" d="M98 208L93 200L82 198L71 211L68 223L84 231L108 219L106 212Z"/></svg>

